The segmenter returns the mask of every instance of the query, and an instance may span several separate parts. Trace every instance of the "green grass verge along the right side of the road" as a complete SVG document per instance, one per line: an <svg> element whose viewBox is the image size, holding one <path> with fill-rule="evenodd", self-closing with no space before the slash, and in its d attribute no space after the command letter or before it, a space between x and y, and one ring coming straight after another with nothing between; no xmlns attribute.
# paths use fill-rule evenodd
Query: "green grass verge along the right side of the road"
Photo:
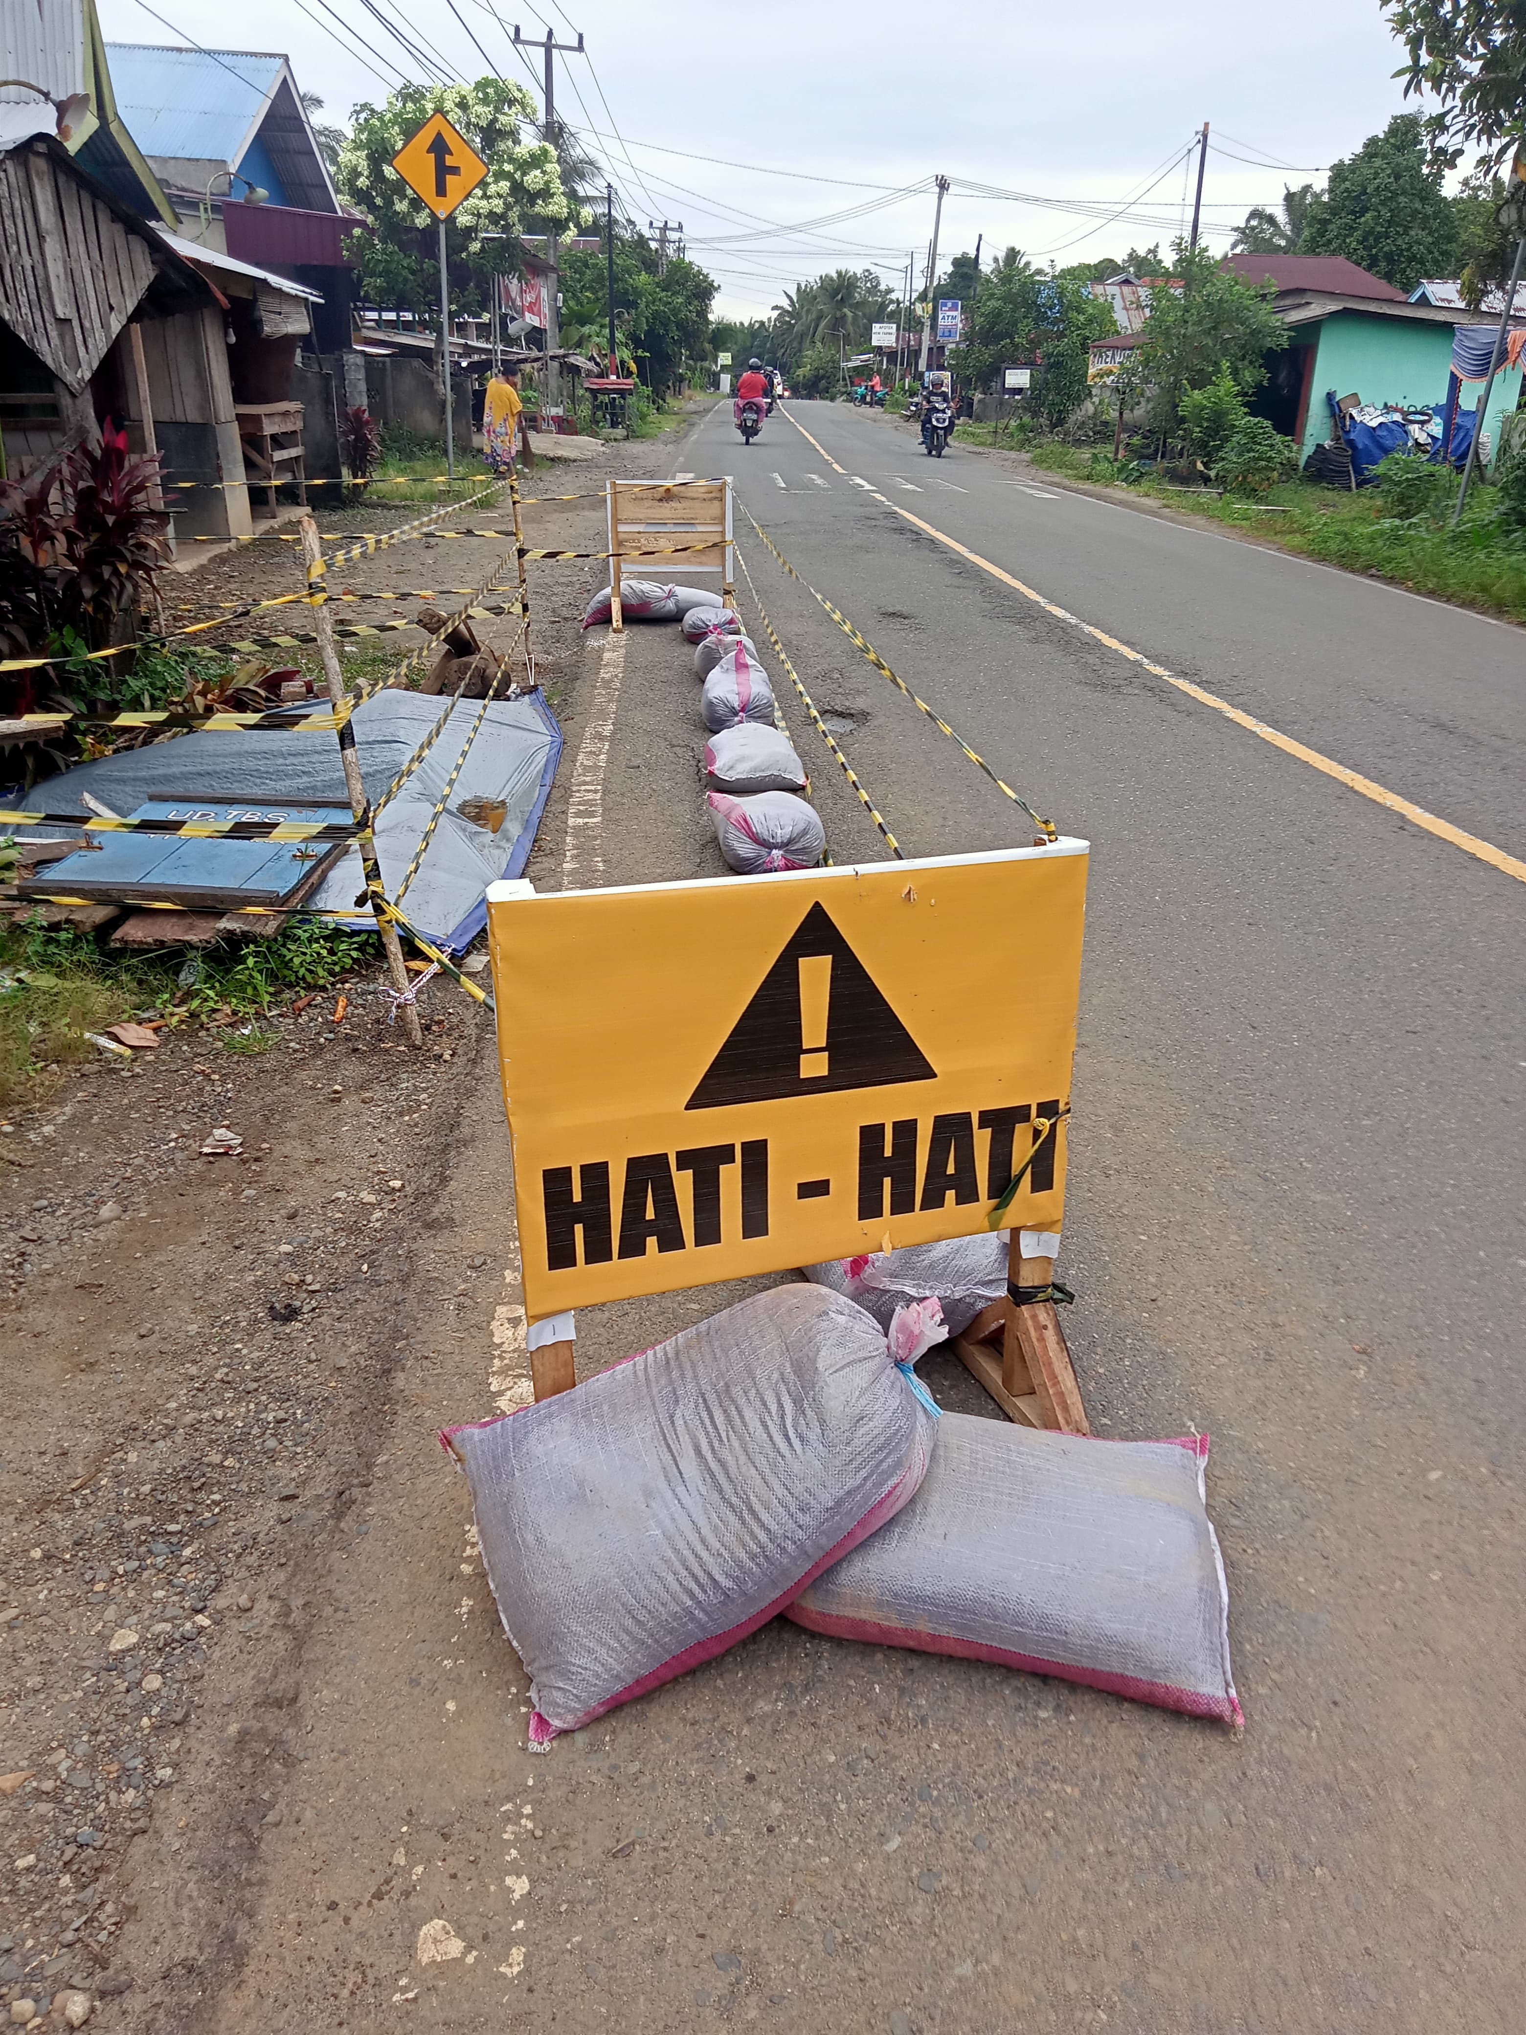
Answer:
<svg viewBox="0 0 1526 2035"><path fill-rule="evenodd" d="M1034 466L1072 480L1129 486L1172 509L1235 529L1255 531L1290 551L1327 566L1392 580L1416 594L1455 600L1526 621L1526 537L1512 533L1500 515L1500 490L1477 486L1459 529L1428 515L1394 515L1384 488L1345 495L1308 480L1288 480L1266 495L1202 495L1172 488L1133 462L1115 466L1105 452L1046 442L1030 454Z"/></svg>

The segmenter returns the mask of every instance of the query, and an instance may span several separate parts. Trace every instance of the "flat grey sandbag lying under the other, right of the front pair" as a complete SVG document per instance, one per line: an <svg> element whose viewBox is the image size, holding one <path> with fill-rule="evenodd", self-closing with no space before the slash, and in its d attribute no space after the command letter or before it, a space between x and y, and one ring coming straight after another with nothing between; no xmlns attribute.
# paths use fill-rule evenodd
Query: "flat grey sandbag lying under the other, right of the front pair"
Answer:
<svg viewBox="0 0 1526 2035"><path fill-rule="evenodd" d="M946 1412L914 1502L789 1618L1237 1726L1207 1453L1207 1437L1097 1441Z"/></svg>

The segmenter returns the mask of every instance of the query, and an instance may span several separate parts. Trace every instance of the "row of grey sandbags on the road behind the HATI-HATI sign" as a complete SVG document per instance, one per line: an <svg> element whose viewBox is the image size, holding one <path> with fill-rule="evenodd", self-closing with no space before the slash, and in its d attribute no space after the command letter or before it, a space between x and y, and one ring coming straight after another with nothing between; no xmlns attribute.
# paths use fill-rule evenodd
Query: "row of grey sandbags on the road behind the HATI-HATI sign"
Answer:
<svg viewBox="0 0 1526 2035"><path fill-rule="evenodd" d="M606 586L590 600L584 629L606 623L610 606ZM708 806L726 865L743 875L814 869L826 851L826 830L741 617L708 590L657 580L623 580L621 615L625 621L682 623L694 645L694 676L704 688L700 714L710 733L704 747Z"/></svg>

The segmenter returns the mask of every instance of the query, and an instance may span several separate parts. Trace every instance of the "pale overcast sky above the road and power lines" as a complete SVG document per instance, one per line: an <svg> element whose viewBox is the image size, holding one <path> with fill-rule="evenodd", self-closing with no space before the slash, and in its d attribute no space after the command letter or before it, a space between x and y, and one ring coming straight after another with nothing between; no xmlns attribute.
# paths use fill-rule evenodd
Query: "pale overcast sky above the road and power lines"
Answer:
<svg viewBox="0 0 1526 2035"><path fill-rule="evenodd" d="M486 69L442 0L372 4L433 53L433 75ZM155 0L159 20L142 0L98 6L108 41L283 51L340 124L358 100L380 102L399 69L429 75L366 0L328 0L332 12L324 0ZM505 75L525 83L509 43L515 20L543 37L549 16L560 41L576 41L576 22L588 55L557 57L560 118L588 130L637 222L684 222L690 254L720 285L716 313L737 317L767 313L785 287L824 269L875 265L891 277L916 254L920 287L934 173L954 179L940 267L977 234L987 254L1015 244L1060 265L1121 256L1184 230L1196 155L1182 155L1209 120L1202 216L1211 244L1227 246L1249 206L1276 206L1284 183L1320 181L1325 165L1404 110L1392 77L1402 51L1375 0L1284 0L1272 14L1221 0L456 6ZM352 51L336 41L340 22ZM531 63L539 104L539 53Z"/></svg>

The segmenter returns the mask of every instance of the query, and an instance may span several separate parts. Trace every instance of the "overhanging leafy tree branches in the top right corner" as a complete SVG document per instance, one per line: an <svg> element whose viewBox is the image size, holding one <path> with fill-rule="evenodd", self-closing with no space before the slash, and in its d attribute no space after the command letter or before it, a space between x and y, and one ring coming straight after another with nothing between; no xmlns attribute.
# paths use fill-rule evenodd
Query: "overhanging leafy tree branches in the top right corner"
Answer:
<svg viewBox="0 0 1526 2035"><path fill-rule="evenodd" d="M1424 134L1430 163L1453 169L1477 149L1487 177L1516 151L1526 106L1526 8L1520 0L1382 0L1408 63L1404 96L1436 102Z"/></svg>

